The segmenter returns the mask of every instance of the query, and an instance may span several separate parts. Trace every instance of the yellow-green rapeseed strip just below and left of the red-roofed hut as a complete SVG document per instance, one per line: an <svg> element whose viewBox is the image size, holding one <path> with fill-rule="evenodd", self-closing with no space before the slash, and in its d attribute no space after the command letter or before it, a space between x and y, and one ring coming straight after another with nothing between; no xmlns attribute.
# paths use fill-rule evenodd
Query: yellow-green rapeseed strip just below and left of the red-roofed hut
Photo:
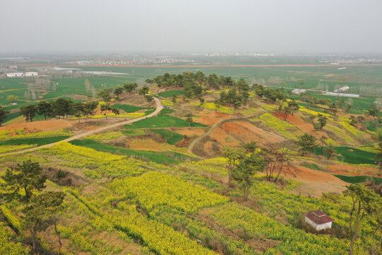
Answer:
<svg viewBox="0 0 382 255"><path fill-rule="evenodd" d="M285 226L277 220L245 208L228 203L209 212L209 216L234 231L242 228L252 238L267 238L281 241L264 254L348 254L348 242L329 235L309 234L292 226ZM357 242L354 254L366 254Z"/></svg>

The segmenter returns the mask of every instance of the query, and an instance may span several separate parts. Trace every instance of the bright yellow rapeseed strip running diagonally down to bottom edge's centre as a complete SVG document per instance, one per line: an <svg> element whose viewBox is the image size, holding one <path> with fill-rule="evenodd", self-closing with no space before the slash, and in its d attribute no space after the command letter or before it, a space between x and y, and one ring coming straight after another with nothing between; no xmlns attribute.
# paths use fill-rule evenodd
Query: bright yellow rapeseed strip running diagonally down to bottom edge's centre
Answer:
<svg viewBox="0 0 382 255"><path fill-rule="evenodd" d="M92 197L90 200L79 196L78 193L72 192L83 205L86 205L88 211L93 214L93 223L100 222L100 226L105 226L110 229L114 228L123 236L123 232L130 237L141 239L152 251L156 254L205 254L216 255L211 251L188 238L182 232L176 232L172 227L164 225L156 220L151 220L137 211L136 205L126 202L117 204L117 208L108 207L108 213L100 210L100 206L105 205L99 196ZM108 199L115 199L109 193ZM118 199L118 198L117 198ZM102 227L101 227L102 228Z"/></svg>

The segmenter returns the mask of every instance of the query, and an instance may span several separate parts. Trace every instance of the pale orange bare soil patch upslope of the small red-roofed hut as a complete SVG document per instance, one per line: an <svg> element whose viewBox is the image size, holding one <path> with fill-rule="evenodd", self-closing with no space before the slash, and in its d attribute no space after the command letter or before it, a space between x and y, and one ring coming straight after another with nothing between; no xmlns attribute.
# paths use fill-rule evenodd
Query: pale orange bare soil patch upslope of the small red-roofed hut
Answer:
<svg viewBox="0 0 382 255"><path fill-rule="evenodd" d="M322 193L340 193L345 190L345 186L348 184L332 174L308 169L303 166L293 165L290 167L290 170L296 176L289 173L289 171L284 171L284 177L286 179L293 179L306 184L295 188L292 192L304 196L320 198Z"/></svg>

